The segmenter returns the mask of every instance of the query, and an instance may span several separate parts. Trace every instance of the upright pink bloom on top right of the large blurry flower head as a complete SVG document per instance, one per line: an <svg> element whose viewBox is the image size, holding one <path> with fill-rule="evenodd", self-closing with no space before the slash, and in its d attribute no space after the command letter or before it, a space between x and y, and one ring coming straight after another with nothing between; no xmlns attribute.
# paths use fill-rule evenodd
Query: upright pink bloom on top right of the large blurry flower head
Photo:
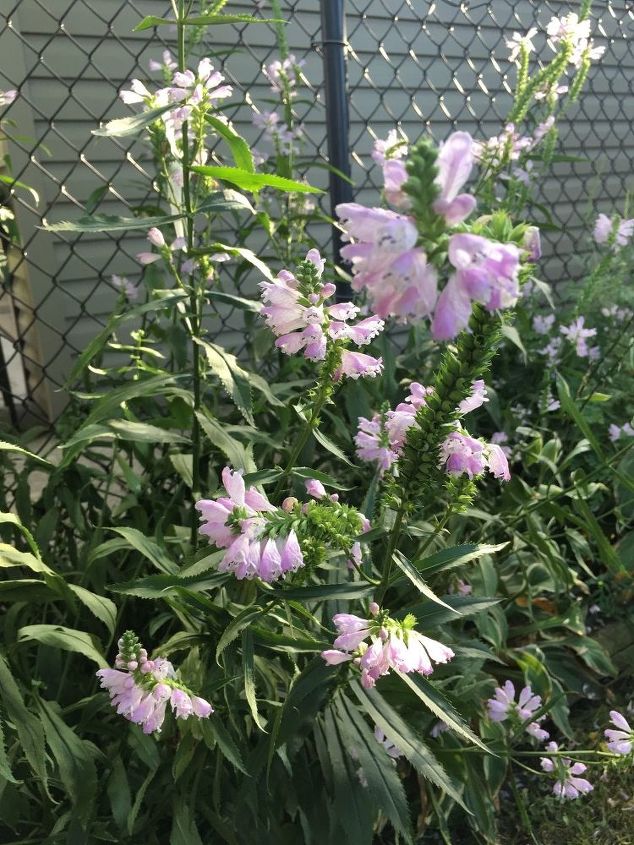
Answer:
<svg viewBox="0 0 634 845"><path fill-rule="evenodd" d="M475 197L459 193L471 174L474 159L473 139L468 132L454 132L440 146L436 159L440 195L434 202L434 211L449 226L462 223L476 207Z"/></svg>

